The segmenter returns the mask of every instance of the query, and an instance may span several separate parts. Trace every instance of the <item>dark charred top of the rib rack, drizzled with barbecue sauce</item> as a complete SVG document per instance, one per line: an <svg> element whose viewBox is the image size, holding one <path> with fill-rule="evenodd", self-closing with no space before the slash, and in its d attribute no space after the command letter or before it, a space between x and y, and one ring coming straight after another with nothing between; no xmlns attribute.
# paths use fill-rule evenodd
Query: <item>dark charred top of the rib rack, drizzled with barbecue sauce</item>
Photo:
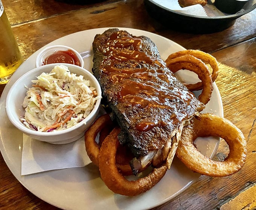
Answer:
<svg viewBox="0 0 256 210"><path fill-rule="evenodd" d="M174 76L147 37L108 29L93 41L93 73L136 157L162 150L203 104Z"/></svg>

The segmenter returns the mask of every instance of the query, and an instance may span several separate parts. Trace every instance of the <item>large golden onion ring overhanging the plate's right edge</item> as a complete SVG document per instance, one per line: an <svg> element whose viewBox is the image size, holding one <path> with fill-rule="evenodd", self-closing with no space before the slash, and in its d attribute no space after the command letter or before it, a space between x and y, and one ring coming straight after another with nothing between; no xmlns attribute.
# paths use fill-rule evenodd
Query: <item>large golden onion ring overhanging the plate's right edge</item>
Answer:
<svg viewBox="0 0 256 210"><path fill-rule="evenodd" d="M201 154L193 142L200 136L217 136L229 145L229 155L224 161L213 161ZM212 176L224 177L242 168L245 163L247 142L242 132L229 120L213 114L201 114L183 128L176 151L177 157L191 170Z"/></svg>

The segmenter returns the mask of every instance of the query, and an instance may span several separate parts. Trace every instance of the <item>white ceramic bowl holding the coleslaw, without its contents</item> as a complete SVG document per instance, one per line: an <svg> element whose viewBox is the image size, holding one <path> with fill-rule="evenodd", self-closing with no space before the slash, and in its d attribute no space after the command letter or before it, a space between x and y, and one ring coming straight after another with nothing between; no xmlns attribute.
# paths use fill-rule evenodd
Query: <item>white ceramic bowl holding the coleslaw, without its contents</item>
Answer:
<svg viewBox="0 0 256 210"><path fill-rule="evenodd" d="M39 132L27 128L20 120L21 116L24 116L25 110L22 107L24 97L26 96L27 88L32 87L31 80L36 79L43 72L50 72L55 65L59 64L48 64L41 67L30 70L23 76L21 76L10 88L5 102L5 110L9 120L12 124L22 131L24 134L29 135L31 138L49 142L53 144L65 144L74 142L84 135L85 130L93 123L96 119L99 108L101 106L101 100L97 100L96 104L91 113L81 122L61 131L54 132ZM96 88L98 95L101 96L101 87L97 79L87 70L82 67L73 64L61 64L69 68L71 73L75 73L77 76L83 75L85 79L90 80L91 86Z"/></svg>

